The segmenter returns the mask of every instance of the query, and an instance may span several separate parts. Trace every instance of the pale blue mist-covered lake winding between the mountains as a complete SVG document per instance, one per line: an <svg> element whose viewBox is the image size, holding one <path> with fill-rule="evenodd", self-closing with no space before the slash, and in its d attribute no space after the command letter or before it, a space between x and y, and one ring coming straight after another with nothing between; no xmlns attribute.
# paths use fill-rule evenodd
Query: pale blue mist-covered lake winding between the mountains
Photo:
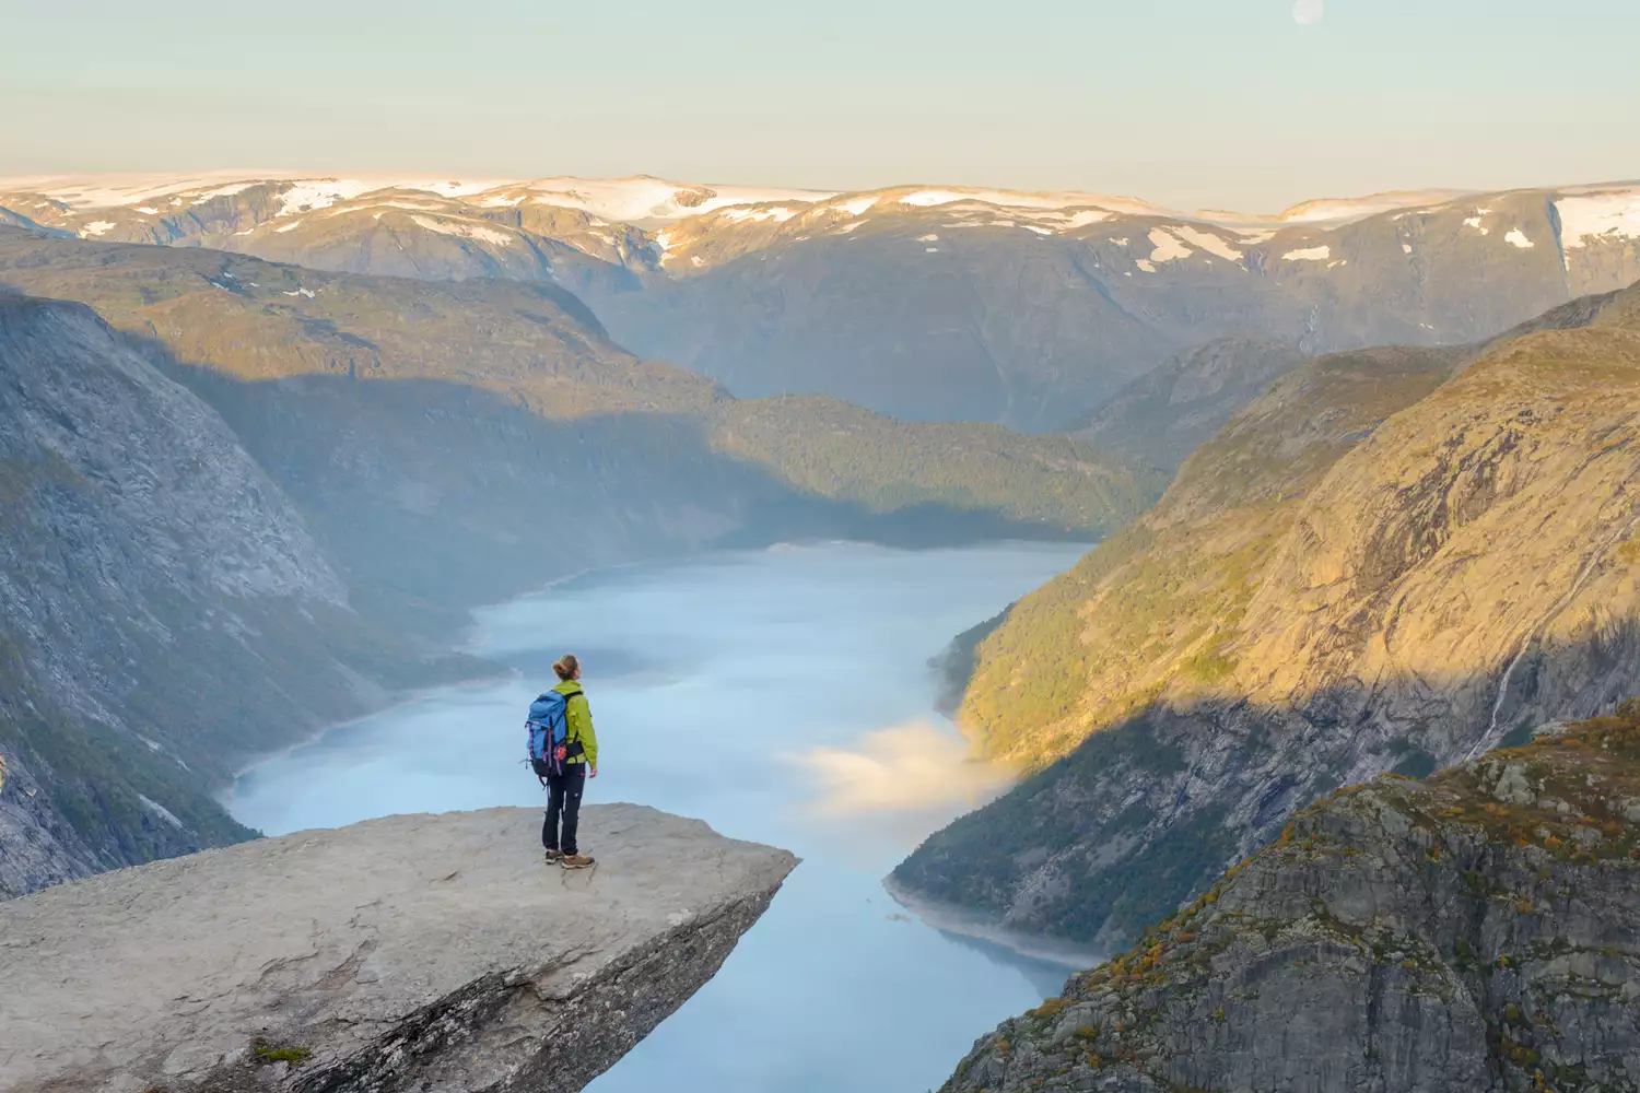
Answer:
<svg viewBox="0 0 1640 1093"><path fill-rule="evenodd" d="M471 649L522 678L341 726L248 772L230 805L267 834L541 806L523 710L572 651L600 744L589 805L699 816L804 859L718 977L589 1088L917 1093L1066 975L932 929L882 891L923 836L1002 788L933 711L927 660L1082 551L827 544L563 582L479 613Z"/></svg>

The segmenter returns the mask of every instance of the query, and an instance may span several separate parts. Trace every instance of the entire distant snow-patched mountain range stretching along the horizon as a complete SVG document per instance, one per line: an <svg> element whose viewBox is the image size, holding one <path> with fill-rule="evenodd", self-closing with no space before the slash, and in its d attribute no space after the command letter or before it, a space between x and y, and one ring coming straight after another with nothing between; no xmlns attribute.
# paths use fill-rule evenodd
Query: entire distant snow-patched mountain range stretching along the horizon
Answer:
<svg viewBox="0 0 1640 1093"><path fill-rule="evenodd" d="M741 397L1043 431L1215 338L1458 344L1640 277L1640 187L1399 193L1279 216L1094 193L656 179L0 182L89 239L423 279L551 280Z"/></svg>

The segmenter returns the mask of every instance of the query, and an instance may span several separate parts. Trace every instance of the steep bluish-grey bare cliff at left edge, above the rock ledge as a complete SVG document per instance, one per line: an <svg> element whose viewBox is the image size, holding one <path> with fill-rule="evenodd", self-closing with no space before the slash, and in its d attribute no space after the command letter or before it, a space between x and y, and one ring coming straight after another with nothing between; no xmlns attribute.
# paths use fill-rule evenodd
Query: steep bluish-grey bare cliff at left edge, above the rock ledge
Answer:
<svg viewBox="0 0 1640 1093"><path fill-rule="evenodd" d="M208 790L415 657L366 639L233 431L90 310L0 297L0 895L243 837Z"/></svg>

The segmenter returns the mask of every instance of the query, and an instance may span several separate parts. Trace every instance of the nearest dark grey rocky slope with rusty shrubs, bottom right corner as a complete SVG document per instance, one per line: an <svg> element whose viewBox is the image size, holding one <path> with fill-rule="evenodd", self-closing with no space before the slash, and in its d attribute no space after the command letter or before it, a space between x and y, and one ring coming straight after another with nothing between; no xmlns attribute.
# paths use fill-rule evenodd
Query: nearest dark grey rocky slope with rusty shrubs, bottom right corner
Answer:
<svg viewBox="0 0 1640 1093"><path fill-rule="evenodd" d="M1637 846L1633 701L1340 790L943 1090L1640 1088Z"/></svg>

